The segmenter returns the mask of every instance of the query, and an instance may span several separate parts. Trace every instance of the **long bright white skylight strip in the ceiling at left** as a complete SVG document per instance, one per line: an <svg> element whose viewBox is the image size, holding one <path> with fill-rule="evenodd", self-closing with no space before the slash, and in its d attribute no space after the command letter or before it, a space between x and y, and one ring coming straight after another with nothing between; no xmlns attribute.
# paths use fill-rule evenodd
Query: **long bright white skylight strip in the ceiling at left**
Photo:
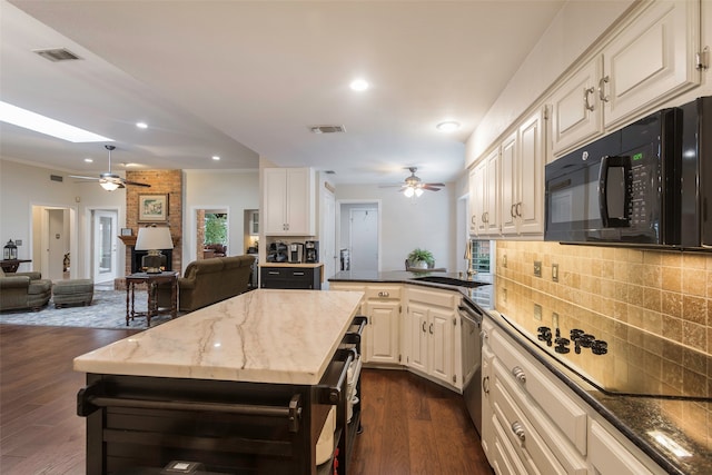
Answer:
<svg viewBox="0 0 712 475"><path fill-rule="evenodd" d="M112 139L101 137L98 133L70 126L69 123L60 122L59 120L50 119L49 117L41 116L3 101L0 101L0 121L75 144L113 141Z"/></svg>

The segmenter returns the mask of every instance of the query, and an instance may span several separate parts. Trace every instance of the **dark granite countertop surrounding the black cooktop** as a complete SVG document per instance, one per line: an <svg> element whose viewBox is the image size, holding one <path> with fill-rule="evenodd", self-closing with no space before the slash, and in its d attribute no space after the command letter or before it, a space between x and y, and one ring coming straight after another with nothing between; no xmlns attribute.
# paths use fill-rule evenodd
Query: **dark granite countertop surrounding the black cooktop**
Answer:
<svg viewBox="0 0 712 475"><path fill-rule="evenodd" d="M695 406L710 405L712 404L711 402L604 393L523 336L522 330L506 317L493 310L487 311L487 315L500 328L520 342L522 347L542 363L554 376L573 389L574 393L615 428L621 431L623 435L647 454L665 472L680 475L712 474L712 451L695 442L694 437L685 431L685 427L680 427L670 420L664 412L661 410L662 404L673 403L682 412L695 412ZM656 442L652 434L654 432L664 434L669 439L686 449L690 455L674 455L670 448Z"/></svg>

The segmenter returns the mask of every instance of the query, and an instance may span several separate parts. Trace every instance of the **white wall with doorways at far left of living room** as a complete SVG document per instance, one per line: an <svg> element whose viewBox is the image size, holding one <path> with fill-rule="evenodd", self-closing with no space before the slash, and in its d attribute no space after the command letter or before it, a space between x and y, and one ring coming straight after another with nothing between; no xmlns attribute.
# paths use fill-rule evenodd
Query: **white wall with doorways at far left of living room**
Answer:
<svg viewBox="0 0 712 475"><path fill-rule="evenodd" d="M50 175L63 177L63 181L50 180ZM34 167L7 159L0 159L0 241L21 239L18 248L20 258L32 259L32 207L69 208L77 211L77 222L70 229L76 248L72 249L72 278L90 277L91 222L88 221L88 208L121 209L119 226L126 222L126 191L107 192L96 182L76 182L69 174L61 170ZM120 245L120 241L119 241ZM122 245L121 245L122 246ZM122 253L119 253L119 268L123 266ZM20 270L40 270L33 261L22 265Z"/></svg>

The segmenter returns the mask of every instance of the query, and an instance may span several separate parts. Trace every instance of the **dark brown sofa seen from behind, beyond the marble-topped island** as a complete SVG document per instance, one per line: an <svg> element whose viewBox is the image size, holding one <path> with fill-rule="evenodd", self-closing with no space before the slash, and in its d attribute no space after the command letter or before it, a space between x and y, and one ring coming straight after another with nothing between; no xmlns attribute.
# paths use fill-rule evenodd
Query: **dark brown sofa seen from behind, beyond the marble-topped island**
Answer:
<svg viewBox="0 0 712 475"><path fill-rule="evenodd" d="M178 277L178 308L192 311L247 291L254 256L195 260ZM170 307L170 286L158 287L158 306Z"/></svg>

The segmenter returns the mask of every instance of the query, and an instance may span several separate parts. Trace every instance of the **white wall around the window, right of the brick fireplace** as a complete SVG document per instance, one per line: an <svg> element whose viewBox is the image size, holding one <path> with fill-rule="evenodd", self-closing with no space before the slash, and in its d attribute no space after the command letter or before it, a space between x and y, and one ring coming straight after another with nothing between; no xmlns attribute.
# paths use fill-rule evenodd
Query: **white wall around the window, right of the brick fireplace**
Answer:
<svg viewBox="0 0 712 475"><path fill-rule="evenodd" d="M259 208L258 170L185 170L182 267L196 259L196 209L227 209L228 255L245 254L245 210ZM261 247L261 243L260 243Z"/></svg>

